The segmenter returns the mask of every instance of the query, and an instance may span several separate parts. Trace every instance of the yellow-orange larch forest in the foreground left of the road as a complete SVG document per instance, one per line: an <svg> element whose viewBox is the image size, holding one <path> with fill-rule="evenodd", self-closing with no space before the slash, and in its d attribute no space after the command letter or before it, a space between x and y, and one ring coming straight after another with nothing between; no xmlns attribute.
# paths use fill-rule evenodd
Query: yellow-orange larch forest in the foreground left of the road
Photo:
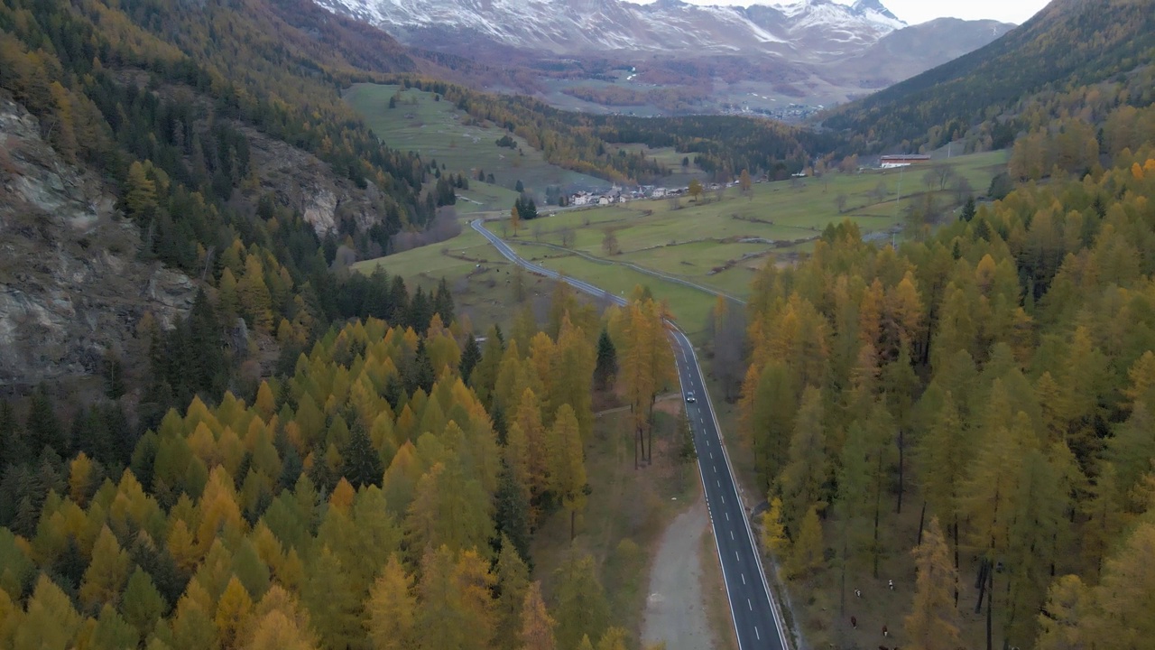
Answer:
<svg viewBox="0 0 1155 650"><path fill-rule="evenodd" d="M331 327L249 399L207 381L139 435L116 401L70 424L0 401L0 648L636 648L588 555L546 604L529 541L579 525L595 377L644 456L672 353L641 289L603 317L558 287L483 346L416 298ZM219 370L173 354L182 331L156 383Z"/></svg>

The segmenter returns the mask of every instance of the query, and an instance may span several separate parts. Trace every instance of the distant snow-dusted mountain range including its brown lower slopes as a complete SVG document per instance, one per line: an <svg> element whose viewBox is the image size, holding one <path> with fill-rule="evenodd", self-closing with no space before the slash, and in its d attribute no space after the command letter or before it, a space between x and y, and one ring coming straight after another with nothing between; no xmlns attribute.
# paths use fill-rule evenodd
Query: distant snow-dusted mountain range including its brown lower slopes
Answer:
<svg viewBox="0 0 1155 650"><path fill-rule="evenodd" d="M754 98L760 97L763 109L773 108L773 102L843 102L945 62L1005 31L992 31L981 21L960 21L949 30L908 27L879 0L859 0L851 6L834 0L795 0L745 8L679 0L650 5L626 0L318 2L334 13L379 25L417 47L495 67L521 66L534 71L537 79L613 82L612 95L629 97L631 104L647 103L633 99L654 86L680 87L683 95L714 97L720 99L717 104L748 101L757 105ZM874 49L888 36L908 30L909 38ZM934 35L936 46L918 47L929 39L927 34ZM908 43L914 46L907 49ZM847 66L856 59L866 60ZM629 77L621 79L625 75L617 75L614 68L631 69ZM559 97L550 97L545 87L527 76L511 83L480 75L475 83L512 86L558 103ZM562 93L574 94L572 88L562 88ZM580 93L599 94L597 83ZM601 104L621 105L610 101ZM569 102L562 105L573 108ZM686 110L695 109L680 112ZM696 111L709 112L709 103Z"/></svg>

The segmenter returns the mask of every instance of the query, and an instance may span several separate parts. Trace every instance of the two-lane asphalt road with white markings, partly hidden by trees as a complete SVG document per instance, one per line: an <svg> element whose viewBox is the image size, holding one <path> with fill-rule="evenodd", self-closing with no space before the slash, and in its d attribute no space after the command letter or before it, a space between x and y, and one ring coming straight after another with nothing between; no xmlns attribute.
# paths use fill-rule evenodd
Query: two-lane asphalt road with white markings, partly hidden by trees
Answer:
<svg viewBox="0 0 1155 650"><path fill-rule="evenodd" d="M620 296L611 295L581 280L560 276L556 271L522 259L500 237L486 230L482 220L475 220L470 226L509 261L547 278L556 280L560 278L572 287L593 296L605 296L619 305L626 304L625 298ZM766 583L762 560L754 546L750 519L738 495L730 457L720 437L721 427L714 414L709 393L706 391L706 379L694 354L694 346L677 326L673 326L670 339L678 364L683 396L693 392L696 398L695 401L686 404L686 416L694 431L698 470L706 488L706 503L709 507L714 540L717 544L722 575L730 598L730 615L738 636L738 647L740 650L785 650L788 645L782 620Z"/></svg>

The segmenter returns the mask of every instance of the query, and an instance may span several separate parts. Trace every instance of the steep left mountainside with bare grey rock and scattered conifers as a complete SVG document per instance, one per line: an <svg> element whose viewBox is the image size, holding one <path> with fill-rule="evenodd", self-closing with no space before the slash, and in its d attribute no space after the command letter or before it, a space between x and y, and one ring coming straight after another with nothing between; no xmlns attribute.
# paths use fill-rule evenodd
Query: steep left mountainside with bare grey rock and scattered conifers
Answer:
<svg viewBox="0 0 1155 650"><path fill-rule="evenodd" d="M110 354L140 385L148 337L131 339L181 323L198 289L234 297L161 355L189 335L219 355L240 317L268 363L278 324L288 345L362 309L328 272L342 242L380 254L437 206L420 160L383 147L337 89L413 71L380 30L307 0L0 6L0 386ZM163 412L209 387L152 398Z"/></svg>

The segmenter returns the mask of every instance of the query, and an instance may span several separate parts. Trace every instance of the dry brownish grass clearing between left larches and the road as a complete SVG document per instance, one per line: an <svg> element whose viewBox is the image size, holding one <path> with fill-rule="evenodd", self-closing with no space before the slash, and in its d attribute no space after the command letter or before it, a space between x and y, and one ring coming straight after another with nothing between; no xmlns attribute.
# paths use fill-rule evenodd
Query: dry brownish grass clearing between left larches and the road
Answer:
<svg viewBox="0 0 1155 650"><path fill-rule="evenodd" d="M662 532L701 490L696 466L677 458L673 413L680 396L661 400L654 430L653 465L634 470L631 416L617 411L598 416L594 440L586 445L590 495L569 541L569 516L559 511L534 535L534 578L551 592L554 570L572 551L589 553L602 567L613 625L634 638L641 634L649 566ZM715 560L716 562L716 560Z"/></svg>

